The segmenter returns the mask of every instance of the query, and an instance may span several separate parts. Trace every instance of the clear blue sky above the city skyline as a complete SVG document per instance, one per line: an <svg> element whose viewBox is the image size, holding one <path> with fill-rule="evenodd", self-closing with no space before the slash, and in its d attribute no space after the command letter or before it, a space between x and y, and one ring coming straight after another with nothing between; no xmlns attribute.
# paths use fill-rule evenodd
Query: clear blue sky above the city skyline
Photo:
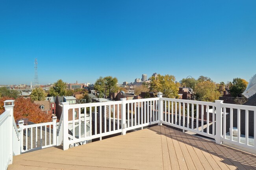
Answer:
<svg viewBox="0 0 256 170"><path fill-rule="evenodd" d="M2 0L0 84L256 73L255 0Z"/></svg>

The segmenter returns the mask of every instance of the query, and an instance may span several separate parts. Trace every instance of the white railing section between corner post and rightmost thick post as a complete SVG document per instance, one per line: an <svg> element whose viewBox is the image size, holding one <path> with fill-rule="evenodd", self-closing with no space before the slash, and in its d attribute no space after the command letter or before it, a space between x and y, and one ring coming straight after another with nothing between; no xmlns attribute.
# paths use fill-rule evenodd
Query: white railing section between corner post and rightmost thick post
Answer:
<svg viewBox="0 0 256 170"><path fill-rule="evenodd" d="M215 139L215 102L160 100L161 123Z"/></svg>

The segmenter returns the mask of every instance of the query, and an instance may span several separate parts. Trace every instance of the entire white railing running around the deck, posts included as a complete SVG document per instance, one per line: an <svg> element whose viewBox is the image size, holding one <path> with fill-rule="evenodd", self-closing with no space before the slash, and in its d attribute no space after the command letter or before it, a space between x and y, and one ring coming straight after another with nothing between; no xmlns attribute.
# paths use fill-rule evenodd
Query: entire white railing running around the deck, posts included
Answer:
<svg viewBox="0 0 256 170"><path fill-rule="evenodd" d="M233 144L241 150L256 152L255 106L170 99L162 97L162 93L150 99L87 104L63 102L58 123L56 117L42 124L24 125L19 121L19 129L13 123L13 106L13 102L6 105L6 112L0 115L1 170L12 162L12 155L61 144L63 150L67 150L96 138L101 140L117 133L125 135L127 131L152 124L172 126L210 137L218 144Z"/></svg>

